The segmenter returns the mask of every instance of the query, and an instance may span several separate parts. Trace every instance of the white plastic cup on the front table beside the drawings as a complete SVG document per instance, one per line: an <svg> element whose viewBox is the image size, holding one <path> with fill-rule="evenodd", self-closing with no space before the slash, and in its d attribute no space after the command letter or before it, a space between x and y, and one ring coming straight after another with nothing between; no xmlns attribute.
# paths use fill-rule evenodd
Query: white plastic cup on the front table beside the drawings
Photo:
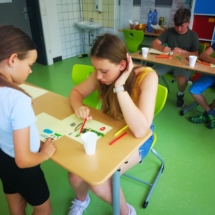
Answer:
<svg viewBox="0 0 215 215"><path fill-rule="evenodd" d="M87 155L93 155L95 153L97 139L98 136L94 132L86 132L81 135L81 140Z"/></svg>

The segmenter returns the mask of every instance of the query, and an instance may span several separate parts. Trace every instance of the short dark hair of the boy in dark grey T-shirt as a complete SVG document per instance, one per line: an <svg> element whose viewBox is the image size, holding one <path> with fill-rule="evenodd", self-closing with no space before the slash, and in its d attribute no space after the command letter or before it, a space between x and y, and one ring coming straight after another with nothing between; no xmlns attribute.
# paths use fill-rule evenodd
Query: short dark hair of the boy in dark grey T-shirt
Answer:
<svg viewBox="0 0 215 215"><path fill-rule="evenodd" d="M190 21L190 10L186 8L180 8L176 11L174 15L175 26L183 25L186 22Z"/></svg>

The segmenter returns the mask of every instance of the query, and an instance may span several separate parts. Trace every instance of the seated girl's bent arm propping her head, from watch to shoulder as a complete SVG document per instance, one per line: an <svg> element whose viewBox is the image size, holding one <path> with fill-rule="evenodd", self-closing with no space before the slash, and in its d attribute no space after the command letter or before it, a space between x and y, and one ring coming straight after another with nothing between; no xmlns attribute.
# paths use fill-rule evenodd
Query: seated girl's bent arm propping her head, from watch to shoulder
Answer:
<svg viewBox="0 0 215 215"><path fill-rule="evenodd" d="M124 119L137 138L143 137L152 124L157 86L158 76L156 72L149 72L139 87L138 106L134 104L126 91L117 93Z"/></svg>

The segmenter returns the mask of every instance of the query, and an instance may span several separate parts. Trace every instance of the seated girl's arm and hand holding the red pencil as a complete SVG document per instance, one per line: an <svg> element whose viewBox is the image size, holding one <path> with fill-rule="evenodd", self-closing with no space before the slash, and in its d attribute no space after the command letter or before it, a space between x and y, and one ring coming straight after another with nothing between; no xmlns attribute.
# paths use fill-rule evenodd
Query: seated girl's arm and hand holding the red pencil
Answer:
<svg viewBox="0 0 215 215"><path fill-rule="evenodd" d="M96 72L80 84L76 85L70 92L69 102L76 115L82 119L89 118L90 110L83 105L83 99L97 89Z"/></svg>

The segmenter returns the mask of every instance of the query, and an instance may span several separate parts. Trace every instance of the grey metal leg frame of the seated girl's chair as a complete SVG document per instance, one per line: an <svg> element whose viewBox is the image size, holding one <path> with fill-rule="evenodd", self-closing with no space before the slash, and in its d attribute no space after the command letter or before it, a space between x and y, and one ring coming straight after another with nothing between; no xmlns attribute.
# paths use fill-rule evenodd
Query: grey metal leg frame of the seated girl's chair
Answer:
<svg viewBox="0 0 215 215"><path fill-rule="evenodd" d="M133 177L133 176L131 176L131 175L129 175L129 174L126 174L126 173L123 174L123 176L126 176L126 177L128 177L128 178L131 178L131 179L133 179L133 180L135 180L135 181L138 181L138 182L140 182L140 183L146 184L146 185L148 185L148 186L151 187L151 188L150 188L150 191L149 191L149 193L148 193L148 195L147 195L147 197L146 197L146 200L145 200L144 203L143 203L143 208L146 208L146 207L147 207L147 205L148 205L148 203L149 203L149 199L150 199L150 197L151 197L151 195L152 195L152 192L153 192L153 190L154 190L154 188L155 188L155 186L156 186L156 184L157 184L157 182L158 182L158 179L160 178L161 173L162 173L163 170L164 170L164 164L165 164L165 163L164 163L164 160L161 158L161 156L160 156L153 148L151 148L150 151L161 161L161 166L160 166L158 172L156 173L156 178L155 178L155 180L154 180L154 182L153 182L152 184L151 184L151 183L148 183L148 182L146 182L146 181L143 181L143 180L141 180L141 179L139 179L139 178Z"/></svg>

